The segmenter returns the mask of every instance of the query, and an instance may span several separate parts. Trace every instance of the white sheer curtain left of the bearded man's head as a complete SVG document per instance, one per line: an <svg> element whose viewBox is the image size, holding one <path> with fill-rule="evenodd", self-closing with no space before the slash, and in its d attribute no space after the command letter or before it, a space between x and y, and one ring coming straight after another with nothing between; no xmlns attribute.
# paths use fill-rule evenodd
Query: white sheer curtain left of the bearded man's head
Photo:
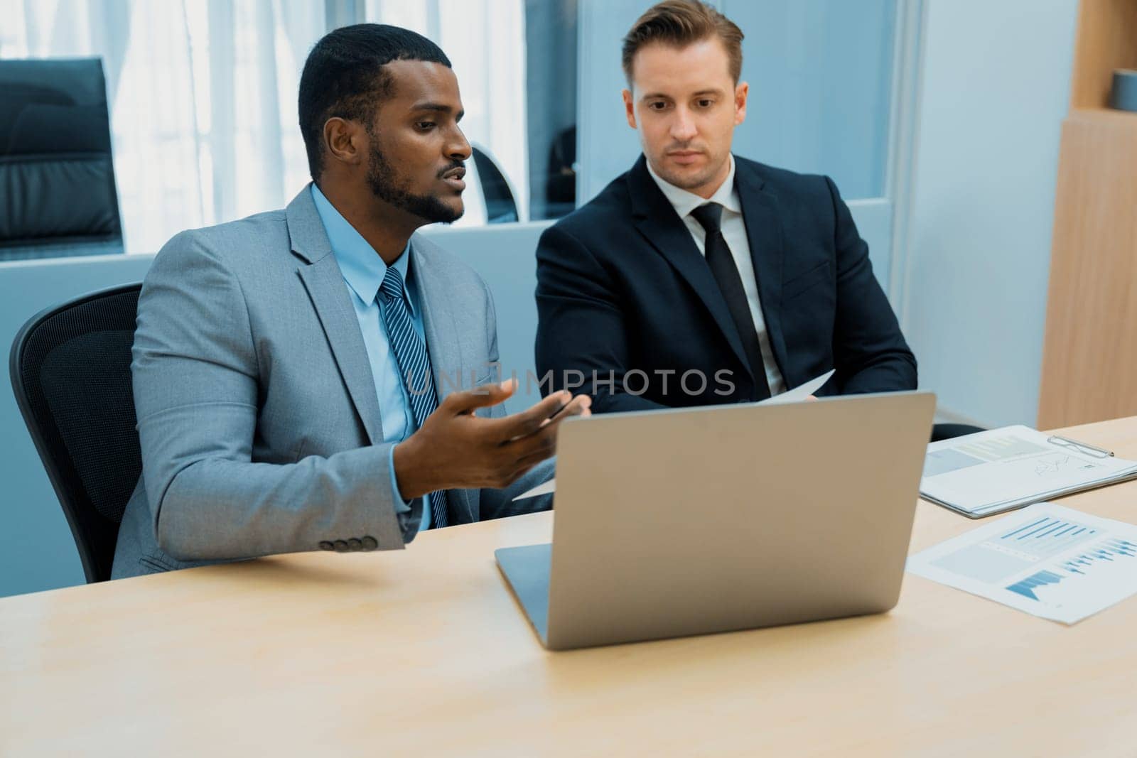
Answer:
<svg viewBox="0 0 1137 758"><path fill-rule="evenodd" d="M102 58L127 252L308 181L296 100L322 0L0 0L0 57Z"/></svg>

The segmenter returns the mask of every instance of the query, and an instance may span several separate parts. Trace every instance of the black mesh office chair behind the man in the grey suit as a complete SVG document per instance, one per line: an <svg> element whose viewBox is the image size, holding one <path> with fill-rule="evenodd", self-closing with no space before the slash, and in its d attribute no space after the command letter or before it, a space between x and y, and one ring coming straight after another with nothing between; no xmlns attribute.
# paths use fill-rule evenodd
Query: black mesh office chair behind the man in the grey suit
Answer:
<svg viewBox="0 0 1137 758"><path fill-rule="evenodd" d="M131 389L141 284L48 308L11 345L16 403L67 516L88 582L110 578L118 524L142 473Z"/></svg>

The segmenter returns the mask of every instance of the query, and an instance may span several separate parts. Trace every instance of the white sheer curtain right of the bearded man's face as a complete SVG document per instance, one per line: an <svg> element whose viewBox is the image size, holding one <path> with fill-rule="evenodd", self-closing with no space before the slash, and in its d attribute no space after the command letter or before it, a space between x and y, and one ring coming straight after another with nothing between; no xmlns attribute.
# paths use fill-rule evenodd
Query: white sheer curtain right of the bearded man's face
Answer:
<svg viewBox="0 0 1137 758"><path fill-rule="evenodd" d="M497 163L529 220L529 127L525 102L524 0L366 0L366 20L393 24L434 41L454 66L466 115L462 130ZM475 172L473 161L468 170ZM476 188L476 181L467 182ZM456 226L485 223L468 190Z"/></svg>

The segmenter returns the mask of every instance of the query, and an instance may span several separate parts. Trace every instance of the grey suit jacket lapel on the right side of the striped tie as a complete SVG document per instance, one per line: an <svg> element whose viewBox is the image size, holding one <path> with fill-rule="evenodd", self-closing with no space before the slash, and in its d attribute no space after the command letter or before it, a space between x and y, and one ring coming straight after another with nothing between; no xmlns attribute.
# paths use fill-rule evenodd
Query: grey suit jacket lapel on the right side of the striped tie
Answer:
<svg viewBox="0 0 1137 758"><path fill-rule="evenodd" d="M429 245L430 243L418 235L410 238L408 274L418 292L426 352L430 356L431 373L434 375L434 390L441 405L446 395L460 388L467 377L468 360L462 353L462 340L458 339L458 318L462 314L455 313L447 282L431 265ZM453 506L465 508L470 522L476 522L479 491L449 490L449 493ZM454 502L455 499L457 502Z"/></svg>

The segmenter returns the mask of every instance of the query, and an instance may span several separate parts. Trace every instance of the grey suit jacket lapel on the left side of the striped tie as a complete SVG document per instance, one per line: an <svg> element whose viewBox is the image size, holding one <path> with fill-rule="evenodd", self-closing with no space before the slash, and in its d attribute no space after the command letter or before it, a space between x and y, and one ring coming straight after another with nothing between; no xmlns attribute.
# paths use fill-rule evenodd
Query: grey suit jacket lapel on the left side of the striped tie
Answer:
<svg viewBox="0 0 1137 758"><path fill-rule="evenodd" d="M351 307L343 274L332 255L327 233L324 232L308 188L301 190L289 203L285 216L292 251L307 264L298 269L300 280L319 316L343 384L363 420L367 438L372 444L379 444L383 441L383 420L375 394L375 380L367 360L367 348L363 343L359 320Z"/></svg>

